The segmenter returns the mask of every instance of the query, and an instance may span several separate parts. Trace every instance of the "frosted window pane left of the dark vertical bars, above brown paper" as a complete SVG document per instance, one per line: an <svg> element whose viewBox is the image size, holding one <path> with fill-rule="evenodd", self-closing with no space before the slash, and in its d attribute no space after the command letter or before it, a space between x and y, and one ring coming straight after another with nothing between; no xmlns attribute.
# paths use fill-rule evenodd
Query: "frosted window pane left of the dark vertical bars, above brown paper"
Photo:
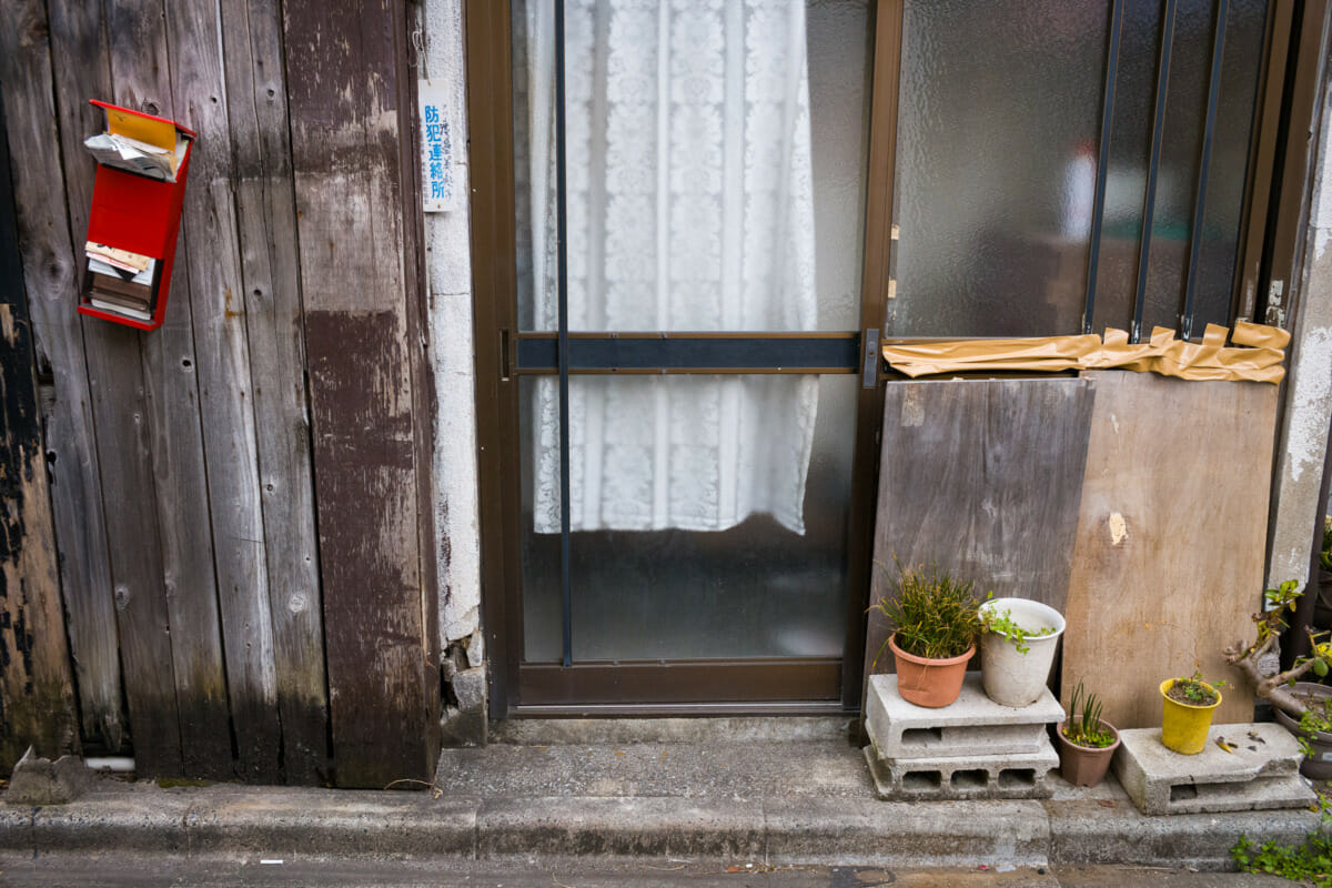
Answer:
<svg viewBox="0 0 1332 888"><path fill-rule="evenodd" d="M907 3L892 335L1075 332L1108 4Z"/></svg>

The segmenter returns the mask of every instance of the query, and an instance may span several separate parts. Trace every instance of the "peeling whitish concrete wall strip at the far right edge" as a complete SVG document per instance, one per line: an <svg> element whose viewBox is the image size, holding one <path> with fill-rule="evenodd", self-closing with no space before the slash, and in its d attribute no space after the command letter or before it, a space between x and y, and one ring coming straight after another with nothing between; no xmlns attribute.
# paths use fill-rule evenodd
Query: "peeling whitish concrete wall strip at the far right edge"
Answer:
<svg viewBox="0 0 1332 888"><path fill-rule="evenodd" d="M1309 222L1305 236L1304 276L1291 325L1289 375L1285 411L1277 437L1276 475L1272 486L1272 531L1267 582L1304 583L1321 527L1319 490L1332 417L1332 122L1325 87Z"/></svg>

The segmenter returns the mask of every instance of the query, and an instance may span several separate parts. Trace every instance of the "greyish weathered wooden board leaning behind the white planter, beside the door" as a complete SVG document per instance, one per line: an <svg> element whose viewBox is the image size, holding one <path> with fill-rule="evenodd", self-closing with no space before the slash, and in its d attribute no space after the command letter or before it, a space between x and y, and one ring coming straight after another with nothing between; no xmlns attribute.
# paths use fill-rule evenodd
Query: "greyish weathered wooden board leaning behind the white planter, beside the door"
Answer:
<svg viewBox="0 0 1332 888"><path fill-rule="evenodd" d="M870 600L896 558L1062 611L1095 397L1070 377L890 382ZM871 611L866 675L891 668L870 668L886 634Z"/></svg>

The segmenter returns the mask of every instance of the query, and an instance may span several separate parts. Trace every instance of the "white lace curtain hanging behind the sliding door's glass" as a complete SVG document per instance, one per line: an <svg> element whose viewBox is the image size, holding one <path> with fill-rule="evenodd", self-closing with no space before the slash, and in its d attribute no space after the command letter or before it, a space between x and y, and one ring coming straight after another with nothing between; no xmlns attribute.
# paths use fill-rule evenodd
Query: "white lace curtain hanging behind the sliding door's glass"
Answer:
<svg viewBox="0 0 1332 888"><path fill-rule="evenodd" d="M557 326L554 4L527 4L534 322ZM567 0L571 330L813 330L803 0ZM571 377L573 530L805 533L817 377ZM559 531L535 386L534 523Z"/></svg>

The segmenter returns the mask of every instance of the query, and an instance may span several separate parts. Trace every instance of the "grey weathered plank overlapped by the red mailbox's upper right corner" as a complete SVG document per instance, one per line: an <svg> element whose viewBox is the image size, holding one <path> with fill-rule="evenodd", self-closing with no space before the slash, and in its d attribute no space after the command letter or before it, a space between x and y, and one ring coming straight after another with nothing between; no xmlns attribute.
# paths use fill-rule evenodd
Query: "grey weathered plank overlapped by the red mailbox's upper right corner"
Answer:
<svg viewBox="0 0 1332 888"><path fill-rule="evenodd" d="M165 4L174 118L198 138L190 160L184 250L198 361L202 451L226 656L226 687L242 779L277 783L280 728L268 556L246 341L230 133L214 0ZM285 529L274 527L282 533Z"/></svg>

